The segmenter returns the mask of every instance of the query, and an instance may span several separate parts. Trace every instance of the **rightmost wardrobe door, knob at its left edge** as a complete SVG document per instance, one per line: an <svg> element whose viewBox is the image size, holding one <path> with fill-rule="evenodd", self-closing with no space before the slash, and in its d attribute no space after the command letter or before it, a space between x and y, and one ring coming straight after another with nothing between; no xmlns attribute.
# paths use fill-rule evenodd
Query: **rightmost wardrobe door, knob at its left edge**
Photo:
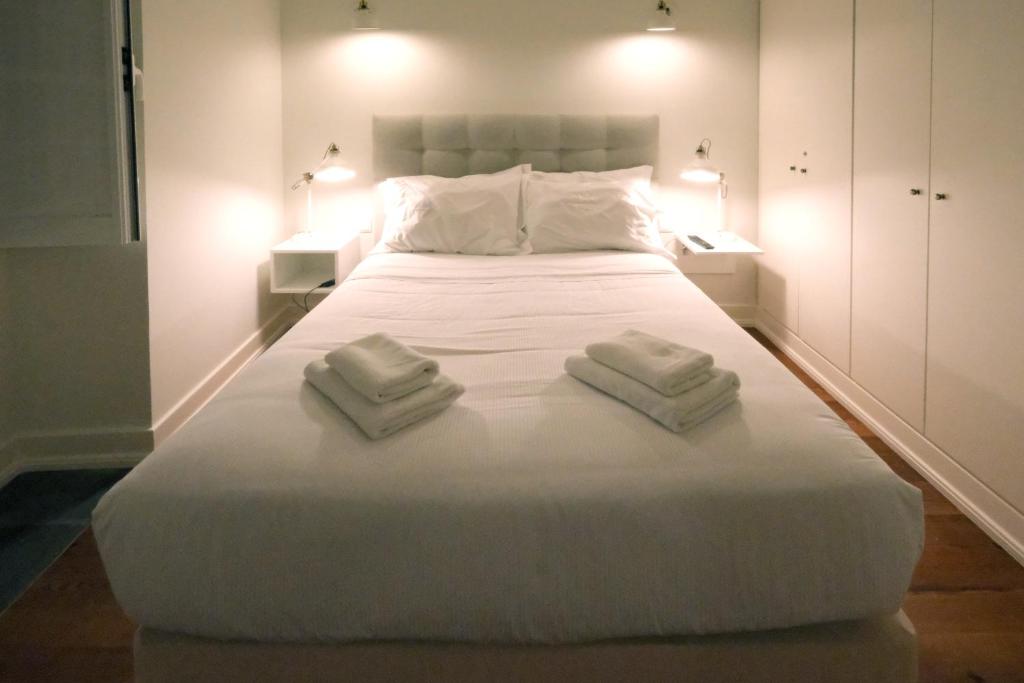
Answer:
<svg viewBox="0 0 1024 683"><path fill-rule="evenodd" d="M1024 510L1024 2L934 11L925 433Z"/></svg>

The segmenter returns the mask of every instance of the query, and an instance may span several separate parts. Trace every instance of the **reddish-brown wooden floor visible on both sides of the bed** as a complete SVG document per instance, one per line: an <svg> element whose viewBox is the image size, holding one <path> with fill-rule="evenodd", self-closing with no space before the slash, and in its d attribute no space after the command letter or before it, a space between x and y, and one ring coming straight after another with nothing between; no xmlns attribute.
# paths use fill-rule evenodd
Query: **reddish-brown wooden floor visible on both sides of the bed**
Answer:
<svg viewBox="0 0 1024 683"><path fill-rule="evenodd" d="M1024 683L1024 567L754 334L893 470L924 492L925 552L904 602L920 638L921 680ZM130 681L134 628L115 603L95 541L86 531L0 615L0 681Z"/></svg>

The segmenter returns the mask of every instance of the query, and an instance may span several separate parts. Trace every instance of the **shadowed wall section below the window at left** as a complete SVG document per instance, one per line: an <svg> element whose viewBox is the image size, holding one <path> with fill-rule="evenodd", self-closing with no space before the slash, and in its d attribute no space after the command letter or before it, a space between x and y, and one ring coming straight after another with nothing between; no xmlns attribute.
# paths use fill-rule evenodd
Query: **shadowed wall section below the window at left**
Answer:
<svg viewBox="0 0 1024 683"><path fill-rule="evenodd" d="M18 456L144 450L145 248L12 249L9 386Z"/></svg>

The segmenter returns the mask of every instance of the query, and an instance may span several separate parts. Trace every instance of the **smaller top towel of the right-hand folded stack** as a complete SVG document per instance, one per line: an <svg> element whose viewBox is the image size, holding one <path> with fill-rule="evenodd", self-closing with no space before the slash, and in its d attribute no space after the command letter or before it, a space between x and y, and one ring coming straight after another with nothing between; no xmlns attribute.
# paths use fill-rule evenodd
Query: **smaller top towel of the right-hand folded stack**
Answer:
<svg viewBox="0 0 1024 683"><path fill-rule="evenodd" d="M689 391L711 379L715 358L636 330L587 346L594 360L629 375L666 396Z"/></svg>

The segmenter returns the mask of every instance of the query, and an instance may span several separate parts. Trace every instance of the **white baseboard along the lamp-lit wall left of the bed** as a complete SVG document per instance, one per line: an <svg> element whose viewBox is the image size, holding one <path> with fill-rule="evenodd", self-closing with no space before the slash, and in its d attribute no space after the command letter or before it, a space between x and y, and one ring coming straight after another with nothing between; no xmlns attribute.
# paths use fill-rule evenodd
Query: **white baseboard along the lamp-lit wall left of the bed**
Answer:
<svg viewBox="0 0 1024 683"><path fill-rule="evenodd" d="M193 387L174 408L154 423L154 446L160 445L164 439L176 432L197 412L206 405L239 371L253 358L270 347L300 317L292 306L286 306L274 315L269 323L253 333L244 341L203 381Z"/></svg>

